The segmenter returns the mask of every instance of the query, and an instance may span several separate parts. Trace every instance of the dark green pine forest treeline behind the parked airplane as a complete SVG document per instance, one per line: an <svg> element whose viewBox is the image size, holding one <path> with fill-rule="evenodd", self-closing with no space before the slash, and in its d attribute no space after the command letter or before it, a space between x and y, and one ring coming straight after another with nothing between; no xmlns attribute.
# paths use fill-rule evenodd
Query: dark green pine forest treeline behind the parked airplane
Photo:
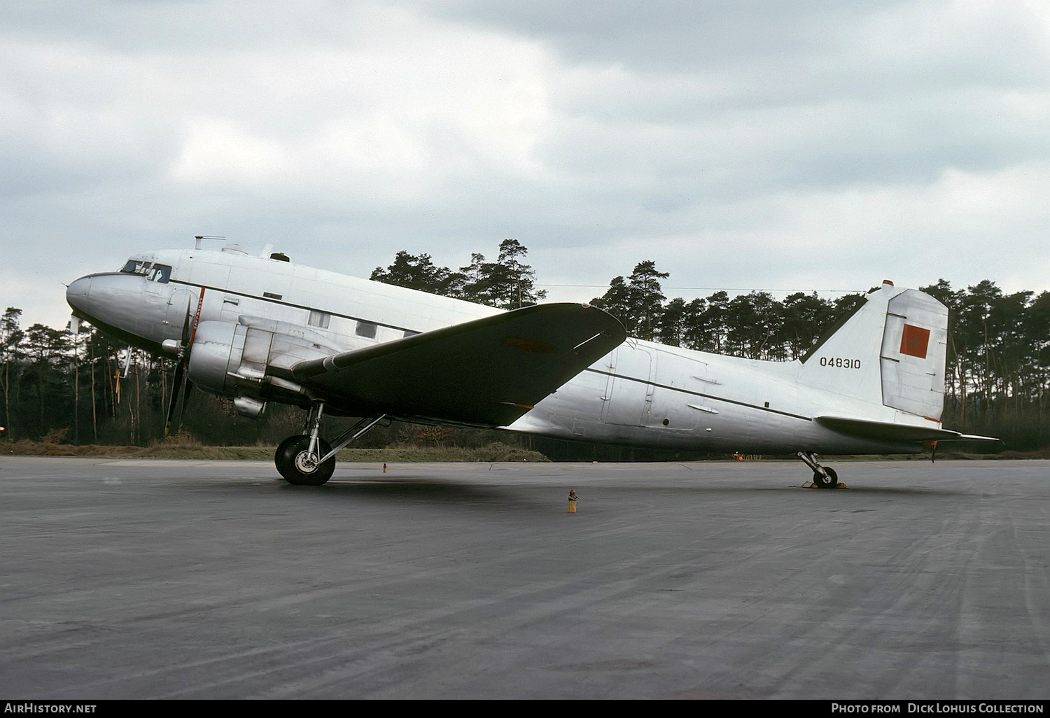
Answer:
<svg viewBox="0 0 1050 718"><path fill-rule="evenodd" d="M542 301L528 250L504 239L494 261L472 254L454 270L428 254L397 252L370 278L391 284L516 309ZM753 359L791 360L805 354L836 319L853 311L864 294L825 299L797 292L782 299L754 291L730 296L668 299L669 273L651 260L627 276L613 277L591 303L616 316L631 336L664 344ZM1018 450L1050 447L1050 292L1004 293L985 280L952 289L945 279L919 288L950 310L944 423L973 434L998 436ZM145 445L161 437L174 361L150 357L81 323L79 332L42 324L21 326L21 310L0 318L0 393L8 439L59 443ZM232 404L191 398L183 430L205 443L275 444L296 434L302 413L271 406L260 419L246 419ZM491 442L491 431L394 424L365 437L364 446L406 442L472 446ZM504 441L541 448L537 440L498 435ZM548 451L549 453L549 451Z"/></svg>

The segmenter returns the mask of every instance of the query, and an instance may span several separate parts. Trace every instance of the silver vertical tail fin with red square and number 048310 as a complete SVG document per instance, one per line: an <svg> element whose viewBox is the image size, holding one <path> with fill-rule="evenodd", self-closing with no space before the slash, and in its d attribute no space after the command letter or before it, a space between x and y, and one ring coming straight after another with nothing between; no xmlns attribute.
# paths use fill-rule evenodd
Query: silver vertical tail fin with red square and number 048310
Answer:
<svg viewBox="0 0 1050 718"><path fill-rule="evenodd" d="M944 304L883 282L803 358L799 382L939 421L947 340Z"/></svg>

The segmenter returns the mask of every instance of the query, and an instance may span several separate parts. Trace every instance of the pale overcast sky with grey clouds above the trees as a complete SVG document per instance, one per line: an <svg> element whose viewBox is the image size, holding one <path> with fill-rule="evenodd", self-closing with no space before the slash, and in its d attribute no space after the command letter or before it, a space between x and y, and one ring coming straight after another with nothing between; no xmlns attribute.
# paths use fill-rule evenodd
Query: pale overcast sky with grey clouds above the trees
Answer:
<svg viewBox="0 0 1050 718"><path fill-rule="evenodd" d="M0 309L193 235L549 300L1050 290L1050 0L0 4Z"/></svg>

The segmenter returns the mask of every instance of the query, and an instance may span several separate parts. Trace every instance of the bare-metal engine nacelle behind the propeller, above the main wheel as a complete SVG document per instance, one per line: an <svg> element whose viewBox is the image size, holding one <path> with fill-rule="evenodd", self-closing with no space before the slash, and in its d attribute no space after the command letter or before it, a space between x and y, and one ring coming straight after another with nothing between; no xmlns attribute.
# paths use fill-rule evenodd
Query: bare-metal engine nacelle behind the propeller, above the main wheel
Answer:
<svg viewBox="0 0 1050 718"><path fill-rule="evenodd" d="M268 368L291 368L338 352L326 337L287 322L252 317L240 317L237 323L202 321L190 351L189 380L205 392L233 399L240 414L256 417L266 401L309 398L302 386L269 375Z"/></svg>

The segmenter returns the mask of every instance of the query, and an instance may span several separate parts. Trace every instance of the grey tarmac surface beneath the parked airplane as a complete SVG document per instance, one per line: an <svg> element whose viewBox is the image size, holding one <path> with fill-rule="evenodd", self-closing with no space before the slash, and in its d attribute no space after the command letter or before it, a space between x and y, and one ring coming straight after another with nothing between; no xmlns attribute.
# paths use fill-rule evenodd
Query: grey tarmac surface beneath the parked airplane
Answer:
<svg viewBox="0 0 1050 718"><path fill-rule="evenodd" d="M0 458L0 698L1050 698L1050 462L828 464Z"/></svg>

